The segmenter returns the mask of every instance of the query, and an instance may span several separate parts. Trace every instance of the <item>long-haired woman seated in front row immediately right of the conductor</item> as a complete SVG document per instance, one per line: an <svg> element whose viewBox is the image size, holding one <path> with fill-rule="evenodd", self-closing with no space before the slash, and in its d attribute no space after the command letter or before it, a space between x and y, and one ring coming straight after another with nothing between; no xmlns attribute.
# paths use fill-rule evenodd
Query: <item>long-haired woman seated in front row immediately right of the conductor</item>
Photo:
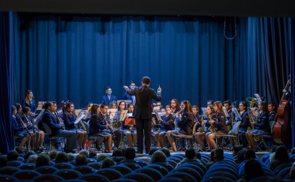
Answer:
<svg viewBox="0 0 295 182"><path fill-rule="evenodd" d="M181 102L180 106L183 108L182 115L180 116L180 113L176 113L176 123L180 130L167 131L167 137L172 146L173 152L176 152L176 145L172 133L191 135L193 132L193 113L191 112L191 103L189 103L188 100L185 100Z"/></svg>

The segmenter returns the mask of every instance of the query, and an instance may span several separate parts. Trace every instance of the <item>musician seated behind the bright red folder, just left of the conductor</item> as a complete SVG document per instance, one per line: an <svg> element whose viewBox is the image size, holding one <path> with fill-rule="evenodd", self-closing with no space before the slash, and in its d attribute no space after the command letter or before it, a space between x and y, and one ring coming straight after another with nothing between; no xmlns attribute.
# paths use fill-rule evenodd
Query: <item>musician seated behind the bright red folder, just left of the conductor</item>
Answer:
<svg viewBox="0 0 295 182"><path fill-rule="evenodd" d="M133 104L128 104L128 113L133 113L134 105ZM128 144L130 147L134 147L135 144L137 143L137 130L132 129L135 126L135 118L128 118L126 117L126 123L134 123L133 125L123 125L123 130L124 133L127 137ZM132 133L133 133L133 139L132 139Z"/></svg>

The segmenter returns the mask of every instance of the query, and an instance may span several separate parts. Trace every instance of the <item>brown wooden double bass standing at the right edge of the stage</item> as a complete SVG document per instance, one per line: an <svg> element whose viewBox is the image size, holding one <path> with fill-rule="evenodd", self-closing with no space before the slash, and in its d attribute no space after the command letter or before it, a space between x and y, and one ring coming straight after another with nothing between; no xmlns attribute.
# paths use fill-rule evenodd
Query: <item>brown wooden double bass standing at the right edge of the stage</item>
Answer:
<svg viewBox="0 0 295 182"><path fill-rule="evenodd" d="M287 81L285 91L287 90L290 82L291 78ZM272 137L274 138L274 142L276 142L276 144L289 144L292 141L292 111L289 101L285 100L284 97L285 92L283 93L278 110L276 111L277 121L276 124L274 124L274 130L272 133Z"/></svg>

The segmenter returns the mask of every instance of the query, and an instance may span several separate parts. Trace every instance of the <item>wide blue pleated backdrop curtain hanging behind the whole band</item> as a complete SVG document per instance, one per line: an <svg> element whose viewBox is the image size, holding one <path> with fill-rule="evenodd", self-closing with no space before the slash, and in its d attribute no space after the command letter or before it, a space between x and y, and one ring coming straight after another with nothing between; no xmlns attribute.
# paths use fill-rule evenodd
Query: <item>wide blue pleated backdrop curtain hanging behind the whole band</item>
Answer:
<svg viewBox="0 0 295 182"><path fill-rule="evenodd" d="M290 23L282 18L237 18L233 40L220 17L23 13L16 21L14 102L32 89L37 101L67 98L80 108L99 103L107 86L121 99L123 85L150 76L163 105L246 101L254 93L279 104L290 73ZM233 18L225 30L234 36Z"/></svg>

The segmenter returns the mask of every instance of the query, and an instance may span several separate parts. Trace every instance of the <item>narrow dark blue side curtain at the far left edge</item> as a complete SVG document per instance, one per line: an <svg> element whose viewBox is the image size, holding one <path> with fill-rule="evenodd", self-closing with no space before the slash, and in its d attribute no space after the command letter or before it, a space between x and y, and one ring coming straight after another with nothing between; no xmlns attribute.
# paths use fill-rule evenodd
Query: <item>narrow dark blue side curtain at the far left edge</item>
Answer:
<svg viewBox="0 0 295 182"><path fill-rule="evenodd" d="M10 73L10 16L0 12L0 152L12 149L11 73Z"/></svg>

